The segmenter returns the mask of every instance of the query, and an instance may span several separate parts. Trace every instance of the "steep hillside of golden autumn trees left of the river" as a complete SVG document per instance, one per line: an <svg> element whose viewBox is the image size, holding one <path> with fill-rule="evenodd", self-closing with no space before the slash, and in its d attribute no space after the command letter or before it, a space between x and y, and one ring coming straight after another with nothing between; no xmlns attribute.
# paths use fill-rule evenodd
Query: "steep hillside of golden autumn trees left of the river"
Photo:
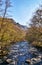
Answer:
<svg viewBox="0 0 42 65"><path fill-rule="evenodd" d="M24 40L25 32L17 25L13 19L5 18L2 26L2 18L0 18L0 40L4 43L17 42Z"/></svg>

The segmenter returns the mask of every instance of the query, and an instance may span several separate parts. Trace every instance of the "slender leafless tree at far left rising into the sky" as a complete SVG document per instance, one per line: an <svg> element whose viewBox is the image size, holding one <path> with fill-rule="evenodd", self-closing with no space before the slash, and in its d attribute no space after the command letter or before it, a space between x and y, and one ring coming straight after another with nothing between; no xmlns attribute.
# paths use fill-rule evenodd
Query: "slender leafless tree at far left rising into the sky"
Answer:
<svg viewBox="0 0 42 65"><path fill-rule="evenodd" d="M0 0L0 4L2 2L3 2L3 0ZM5 19L5 16L6 16L6 13L7 13L8 8L11 7L10 0L5 0L4 3L5 3L4 4L5 8L4 8L3 15L2 15L2 21L1 21L0 31L2 30L2 28L4 27L4 25L6 26L6 24L3 24L4 23L4 19ZM1 4L1 5L3 5L3 4ZM5 31L6 31L6 29L3 31L3 34L1 36L1 40L0 41L2 41L2 38L4 36L4 32Z"/></svg>

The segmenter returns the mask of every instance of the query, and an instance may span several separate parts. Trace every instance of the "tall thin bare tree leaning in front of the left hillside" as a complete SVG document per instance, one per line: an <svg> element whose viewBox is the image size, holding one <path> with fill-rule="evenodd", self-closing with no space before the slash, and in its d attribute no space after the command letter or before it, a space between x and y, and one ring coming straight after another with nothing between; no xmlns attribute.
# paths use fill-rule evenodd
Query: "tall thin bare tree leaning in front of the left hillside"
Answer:
<svg viewBox="0 0 42 65"><path fill-rule="evenodd" d="M7 14L7 10L8 10L8 8L10 8L10 7L11 7L11 2L10 2L10 0L5 0L5 9L4 9L4 12L3 12L3 18L2 18L2 21L1 21L0 31L1 31L1 29L4 27L4 25L3 25L4 19L5 19L5 16L6 16L6 14ZM5 26L6 26L6 24L5 24ZM3 31L3 34L2 34L2 36L1 36L1 40L0 40L0 41L2 41L3 36L4 36L4 33L5 33L6 30L7 30L7 29L5 29L5 30Z"/></svg>

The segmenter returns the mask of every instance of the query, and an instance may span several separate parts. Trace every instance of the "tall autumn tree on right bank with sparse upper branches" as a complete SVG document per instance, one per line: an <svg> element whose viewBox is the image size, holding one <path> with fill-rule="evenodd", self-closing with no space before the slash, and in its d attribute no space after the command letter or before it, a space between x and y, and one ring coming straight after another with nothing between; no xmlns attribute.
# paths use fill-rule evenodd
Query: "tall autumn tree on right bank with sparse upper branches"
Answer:
<svg viewBox="0 0 42 65"><path fill-rule="evenodd" d="M42 47L42 6L36 10L31 19L26 39L33 45Z"/></svg>

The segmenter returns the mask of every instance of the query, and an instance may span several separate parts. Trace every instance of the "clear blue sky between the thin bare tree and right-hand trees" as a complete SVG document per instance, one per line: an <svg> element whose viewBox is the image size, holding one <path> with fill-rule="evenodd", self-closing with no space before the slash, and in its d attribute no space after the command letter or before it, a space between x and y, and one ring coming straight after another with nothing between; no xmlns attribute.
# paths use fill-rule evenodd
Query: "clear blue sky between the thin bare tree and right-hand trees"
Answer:
<svg viewBox="0 0 42 65"><path fill-rule="evenodd" d="M22 25L30 24L30 19L36 9L42 4L42 0L11 0L12 18Z"/></svg>

